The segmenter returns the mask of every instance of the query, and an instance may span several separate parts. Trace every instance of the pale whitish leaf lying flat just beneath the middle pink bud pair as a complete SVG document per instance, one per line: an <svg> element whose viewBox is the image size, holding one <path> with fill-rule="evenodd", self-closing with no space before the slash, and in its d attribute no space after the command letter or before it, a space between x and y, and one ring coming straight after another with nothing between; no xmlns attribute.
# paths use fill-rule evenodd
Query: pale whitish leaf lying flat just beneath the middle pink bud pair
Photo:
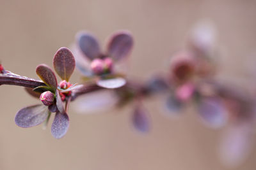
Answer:
<svg viewBox="0 0 256 170"><path fill-rule="evenodd" d="M126 83L126 80L121 77L100 79L99 81L97 81L97 85L99 85L99 87L104 87L106 89L116 89L124 86L125 83Z"/></svg>

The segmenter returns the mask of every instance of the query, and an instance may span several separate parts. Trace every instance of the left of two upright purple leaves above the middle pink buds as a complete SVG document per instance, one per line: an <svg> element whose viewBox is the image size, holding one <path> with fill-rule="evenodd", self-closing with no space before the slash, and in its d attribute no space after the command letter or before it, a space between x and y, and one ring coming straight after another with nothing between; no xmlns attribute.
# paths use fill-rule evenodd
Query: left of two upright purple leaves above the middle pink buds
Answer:
<svg viewBox="0 0 256 170"><path fill-rule="evenodd" d="M93 60L100 56L100 46L97 39L88 32L77 34L77 43L84 55Z"/></svg>

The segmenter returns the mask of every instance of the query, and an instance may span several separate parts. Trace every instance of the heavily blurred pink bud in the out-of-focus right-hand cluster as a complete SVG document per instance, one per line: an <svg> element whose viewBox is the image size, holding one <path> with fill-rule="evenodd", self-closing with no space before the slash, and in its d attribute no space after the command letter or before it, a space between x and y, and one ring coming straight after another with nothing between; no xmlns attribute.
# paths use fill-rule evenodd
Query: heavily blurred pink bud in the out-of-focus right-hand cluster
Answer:
<svg viewBox="0 0 256 170"><path fill-rule="evenodd" d="M180 101L188 101L195 91L195 86L192 83L186 83L176 90L176 96Z"/></svg>

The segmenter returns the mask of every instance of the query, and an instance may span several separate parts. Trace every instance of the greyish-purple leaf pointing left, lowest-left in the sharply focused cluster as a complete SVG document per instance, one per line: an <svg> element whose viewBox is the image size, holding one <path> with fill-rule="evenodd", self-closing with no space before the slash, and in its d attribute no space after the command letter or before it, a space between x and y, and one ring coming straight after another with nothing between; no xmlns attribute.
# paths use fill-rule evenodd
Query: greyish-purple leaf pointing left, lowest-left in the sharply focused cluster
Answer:
<svg viewBox="0 0 256 170"><path fill-rule="evenodd" d="M48 116L47 107L37 104L34 106L28 106L18 111L15 116L15 123L19 127L33 127L35 125L42 124Z"/></svg>

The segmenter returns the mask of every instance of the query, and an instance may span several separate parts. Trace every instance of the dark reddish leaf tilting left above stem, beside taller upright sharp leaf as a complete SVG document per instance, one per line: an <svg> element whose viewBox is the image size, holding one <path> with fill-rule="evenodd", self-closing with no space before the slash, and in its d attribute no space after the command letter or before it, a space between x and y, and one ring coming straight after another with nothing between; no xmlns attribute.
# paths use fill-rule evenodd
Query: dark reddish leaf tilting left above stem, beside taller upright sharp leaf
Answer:
<svg viewBox="0 0 256 170"><path fill-rule="evenodd" d="M52 90L58 87L57 79L52 69L45 64L40 64L36 67L36 74L47 84Z"/></svg>

